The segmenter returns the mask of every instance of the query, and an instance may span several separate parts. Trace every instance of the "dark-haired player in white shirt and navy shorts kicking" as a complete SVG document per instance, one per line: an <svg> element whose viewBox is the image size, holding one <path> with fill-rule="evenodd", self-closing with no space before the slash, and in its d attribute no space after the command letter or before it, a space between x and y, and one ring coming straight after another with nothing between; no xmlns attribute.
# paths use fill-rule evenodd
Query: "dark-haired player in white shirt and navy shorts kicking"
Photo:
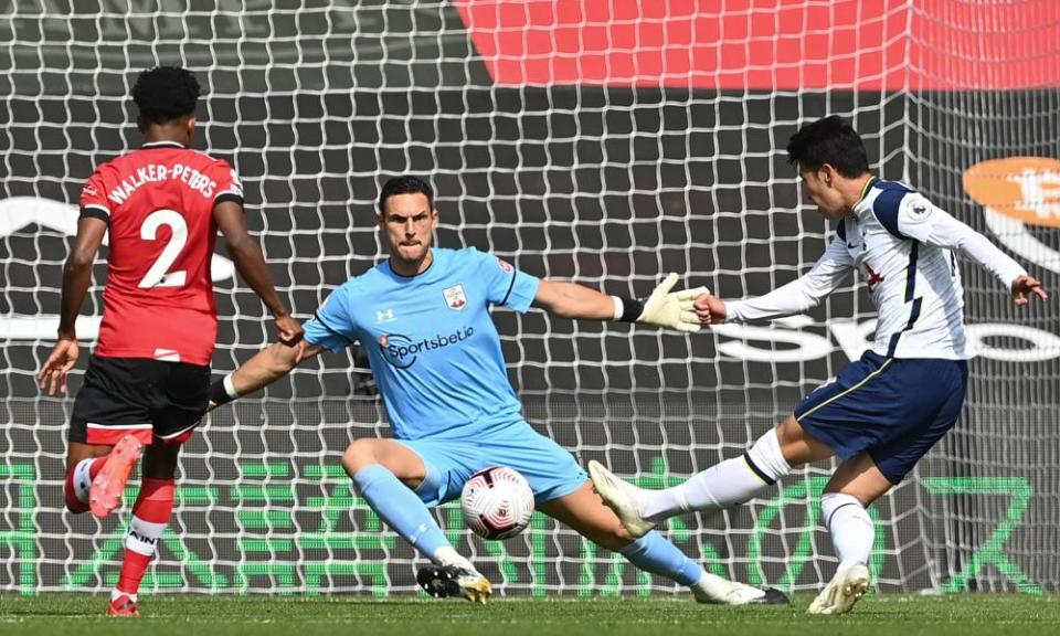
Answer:
<svg viewBox="0 0 1060 636"><path fill-rule="evenodd" d="M1016 305L1047 295L982 234L908 186L873 177L861 138L840 117L804 126L787 153L809 201L837 223L835 239L801 278L759 298L702 295L696 311L703 325L802 314L857 269L879 314L871 349L807 395L742 457L679 486L636 488L596 462L590 473L604 501L637 537L675 515L745 502L793 467L838 456L820 505L839 566L809 612L841 614L869 585L873 528L866 507L901 481L961 414L974 352L964 329L956 255L994 274Z"/></svg>

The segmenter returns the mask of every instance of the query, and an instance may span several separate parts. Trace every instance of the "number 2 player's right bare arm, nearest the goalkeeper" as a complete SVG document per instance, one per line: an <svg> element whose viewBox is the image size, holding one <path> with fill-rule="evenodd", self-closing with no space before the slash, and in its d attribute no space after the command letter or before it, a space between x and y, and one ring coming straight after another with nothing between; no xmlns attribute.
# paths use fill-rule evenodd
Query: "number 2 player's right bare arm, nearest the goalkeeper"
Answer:
<svg viewBox="0 0 1060 636"><path fill-rule="evenodd" d="M273 312L279 341L287 346L296 344L301 340L301 325L290 317L287 308L279 299L279 295L276 294L273 276L268 273L268 266L265 264L262 250L246 231L246 216L243 213L243 206L234 201L223 201L214 206L213 216L224 235L229 255L232 257L240 276L246 280L251 289L254 289L254 293Z"/></svg>

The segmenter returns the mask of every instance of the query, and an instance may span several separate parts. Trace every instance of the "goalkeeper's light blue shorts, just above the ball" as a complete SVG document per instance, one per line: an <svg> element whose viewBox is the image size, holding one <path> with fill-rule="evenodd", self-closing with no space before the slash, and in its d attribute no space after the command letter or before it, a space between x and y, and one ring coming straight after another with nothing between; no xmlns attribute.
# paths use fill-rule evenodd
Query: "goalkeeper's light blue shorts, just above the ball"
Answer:
<svg viewBox="0 0 1060 636"><path fill-rule="evenodd" d="M490 466L518 470L538 505L570 495L589 479L573 455L521 420L476 431L474 437L395 442L423 459L427 476L415 492L428 508L459 497L471 475Z"/></svg>

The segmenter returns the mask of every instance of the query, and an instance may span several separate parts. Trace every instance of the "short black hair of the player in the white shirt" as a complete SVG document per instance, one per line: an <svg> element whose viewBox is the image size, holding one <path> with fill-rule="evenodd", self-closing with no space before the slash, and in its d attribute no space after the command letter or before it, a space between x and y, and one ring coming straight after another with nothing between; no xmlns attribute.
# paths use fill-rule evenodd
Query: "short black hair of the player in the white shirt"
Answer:
<svg viewBox="0 0 1060 636"><path fill-rule="evenodd" d="M828 163L851 179L869 171L869 157L861 137L838 115L807 124L792 135L787 161L809 170Z"/></svg>

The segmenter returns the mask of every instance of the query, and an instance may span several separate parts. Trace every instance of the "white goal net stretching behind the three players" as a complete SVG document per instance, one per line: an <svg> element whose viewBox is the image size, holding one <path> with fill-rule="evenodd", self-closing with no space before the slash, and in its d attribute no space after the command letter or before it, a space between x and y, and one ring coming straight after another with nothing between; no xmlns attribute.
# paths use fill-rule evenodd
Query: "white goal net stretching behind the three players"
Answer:
<svg viewBox="0 0 1060 636"><path fill-rule="evenodd" d="M649 7L650 6L650 7ZM792 280L831 230L784 146L852 120L873 171L904 180L1060 283L1060 9L1054 0L13 0L0 8L0 590L103 590L128 521L63 510L72 399L40 394L81 186L138 145L136 73L193 70L197 147L230 159L285 301L308 318L384 257L382 182L430 177L437 243L643 296L667 272L722 297ZM1052 158L1052 159L1050 159ZM95 338L106 250L78 333ZM958 428L871 513L879 590L1060 590L1060 319L1017 310L962 265L982 357ZM271 341L219 251L215 373ZM497 310L527 418L647 487L681 481L791 413L870 341L860 279L806 317L695 336ZM82 365L83 367L83 365ZM76 392L81 375L71 383ZM354 348L209 417L144 591L384 595L414 551L339 456L389 434ZM724 513L671 520L716 573L813 590L836 560L830 466ZM135 488L135 480L134 480ZM504 594L660 594L669 582L537 515L504 543L437 511Z"/></svg>

